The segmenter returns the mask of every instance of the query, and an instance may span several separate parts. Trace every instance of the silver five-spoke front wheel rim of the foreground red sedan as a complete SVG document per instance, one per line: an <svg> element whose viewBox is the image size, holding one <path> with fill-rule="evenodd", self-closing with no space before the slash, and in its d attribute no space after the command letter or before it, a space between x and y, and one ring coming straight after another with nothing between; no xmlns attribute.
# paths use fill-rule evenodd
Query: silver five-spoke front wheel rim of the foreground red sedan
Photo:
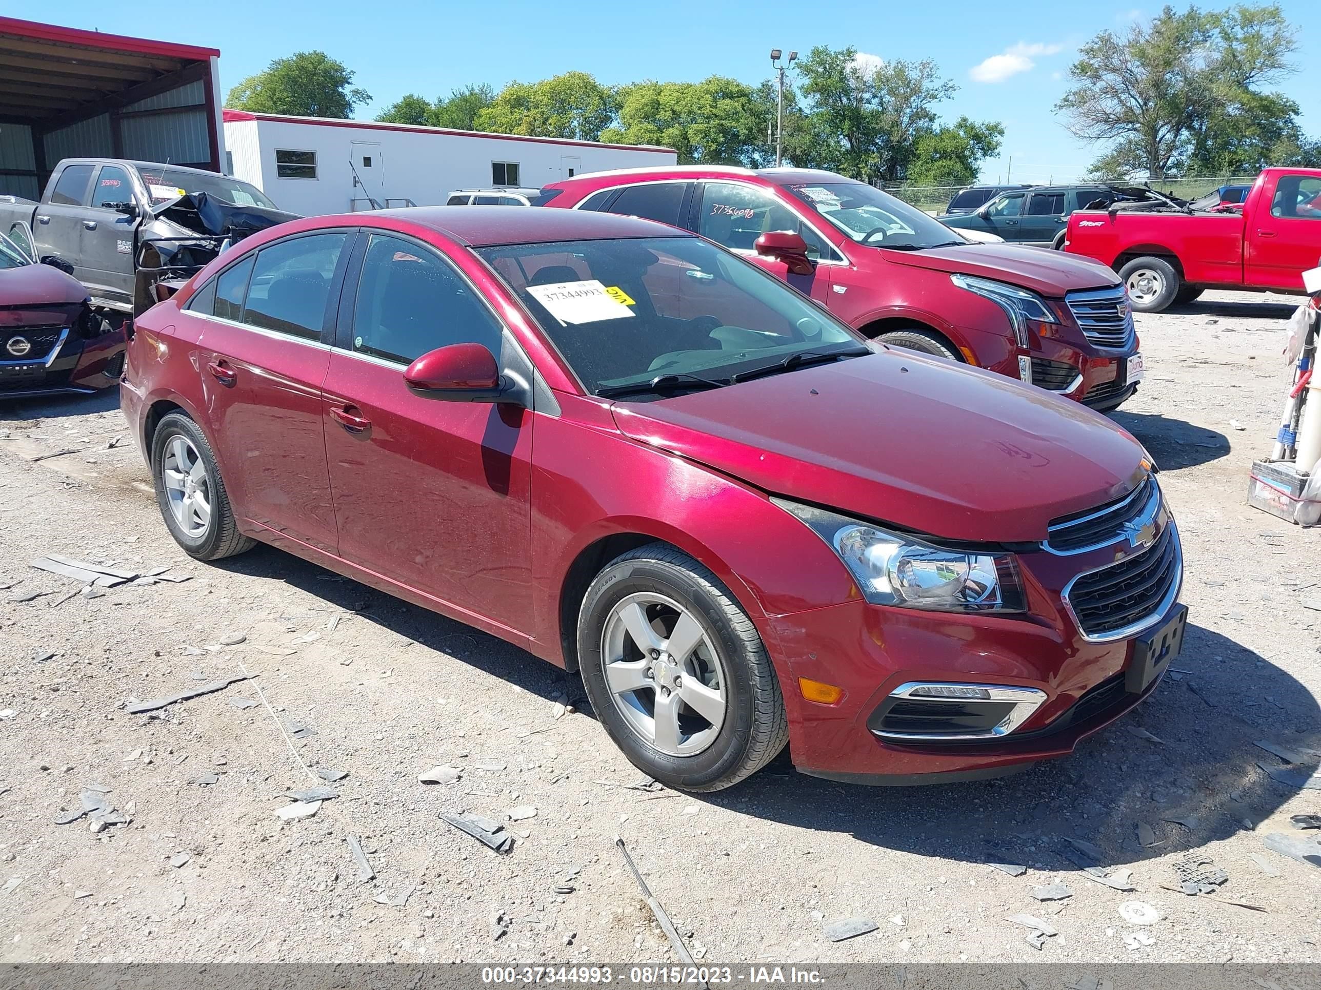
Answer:
<svg viewBox="0 0 1321 990"><path fill-rule="evenodd" d="M701 623L672 598L630 594L601 631L610 700L629 727L671 756L695 756L720 734L728 678Z"/></svg>

